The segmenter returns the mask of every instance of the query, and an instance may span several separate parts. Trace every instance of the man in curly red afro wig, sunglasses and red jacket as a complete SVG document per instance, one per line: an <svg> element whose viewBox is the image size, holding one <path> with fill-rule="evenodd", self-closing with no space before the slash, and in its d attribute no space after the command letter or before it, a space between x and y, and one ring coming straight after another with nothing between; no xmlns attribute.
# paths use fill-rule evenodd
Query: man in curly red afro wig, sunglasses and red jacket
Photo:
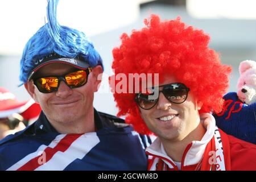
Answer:
<svg viewBox="0 0 256 182"><path fill-rule="evenodd" d="M180 18L161 21L151 15L144 23L142 30L122 34L121 46L113 49L110 86L118 115L139 133L157 136L146 149L152 156L148 169L255 170L256 146L225 134L210 114L221 111L232 69L208 47L209 35ZM136 92L129 80L125 92L118 92L119 74L157 75L159 84L139 84ZM134 92L126 92L129 87Z"/></svg>

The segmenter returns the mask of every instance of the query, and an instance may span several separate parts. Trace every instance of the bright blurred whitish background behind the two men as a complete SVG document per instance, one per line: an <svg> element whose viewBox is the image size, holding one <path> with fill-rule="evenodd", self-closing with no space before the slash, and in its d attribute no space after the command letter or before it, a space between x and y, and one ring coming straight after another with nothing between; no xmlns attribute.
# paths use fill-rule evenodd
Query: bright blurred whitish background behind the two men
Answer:
<svg viewBox="0 0 256 182"><path fill-rule="evenodd" d="M44 25L46 6L46 0L0 2L0 86L19 101L30 98L23 85L18 87L19 61L28 39ZM143 19L152 13L162 19L181 16L183 22L207 32L210 48L220 53L222 63L232 65L228 91L236 92L240 62L256 60L255 7L254 0L60 0L57 18L61 25L85 32L102 56L105 75L94 106L115 115L108 76L112 49L119 46L123 32L142 28Z"/></svg>

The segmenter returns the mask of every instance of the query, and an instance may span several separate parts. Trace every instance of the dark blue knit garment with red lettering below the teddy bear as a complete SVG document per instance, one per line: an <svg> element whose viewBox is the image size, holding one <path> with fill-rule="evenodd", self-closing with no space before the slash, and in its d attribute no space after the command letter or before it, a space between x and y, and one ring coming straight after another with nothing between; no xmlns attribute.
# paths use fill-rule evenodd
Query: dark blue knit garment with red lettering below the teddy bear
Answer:
<svg viewBox="0 0 256 182"><path fill-rule="evenodd" d="M256 144L256 103L247 105L241 102L236 92L223 98L222 112L213 115L216 125L229 135Z"/></svg>

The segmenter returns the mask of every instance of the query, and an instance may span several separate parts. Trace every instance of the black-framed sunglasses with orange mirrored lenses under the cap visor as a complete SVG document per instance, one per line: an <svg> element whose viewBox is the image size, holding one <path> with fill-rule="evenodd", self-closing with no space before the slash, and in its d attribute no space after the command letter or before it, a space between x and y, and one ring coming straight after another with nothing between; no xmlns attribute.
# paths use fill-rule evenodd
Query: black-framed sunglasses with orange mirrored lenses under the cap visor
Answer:
<svg viewBox="0 0 256 182"><path fill-rule="evenodd" d="M63 76L37 77L32 80L40 92L51 93L58 90L61 80L64 81L69 88L79 88L80 86L85 85L91 71L92 68L89 67L85 70L66 73Z"/></svg>

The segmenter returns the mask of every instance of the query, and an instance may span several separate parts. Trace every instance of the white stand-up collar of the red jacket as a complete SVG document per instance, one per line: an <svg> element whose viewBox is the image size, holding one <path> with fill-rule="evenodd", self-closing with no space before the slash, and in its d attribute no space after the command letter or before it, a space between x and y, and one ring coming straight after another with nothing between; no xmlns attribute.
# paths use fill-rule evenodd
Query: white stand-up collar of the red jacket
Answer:
<svg viewBox="0 0 256 182"><path fill-rule="evenodd" d="M204 134L201 141L192 141L192 146L187 151L187 154L185 154L184 163L183 166L191 166L193 164L197 164L200 162L201 158L203 157L205 147L209 143L210 139L213 138L214 135L214 128L216 125L215 119L212 114L209 113L203 113L200 114L201 122L203 123L203 126L205 129L207 129L206 133ZM146 148L146 151L154 156L159 156L164 160L164 162L170 167L173 168L175 164L174 160L172 160L164 150L162 142L160 142L160 139L157 137L154 142Z"/></svg>

